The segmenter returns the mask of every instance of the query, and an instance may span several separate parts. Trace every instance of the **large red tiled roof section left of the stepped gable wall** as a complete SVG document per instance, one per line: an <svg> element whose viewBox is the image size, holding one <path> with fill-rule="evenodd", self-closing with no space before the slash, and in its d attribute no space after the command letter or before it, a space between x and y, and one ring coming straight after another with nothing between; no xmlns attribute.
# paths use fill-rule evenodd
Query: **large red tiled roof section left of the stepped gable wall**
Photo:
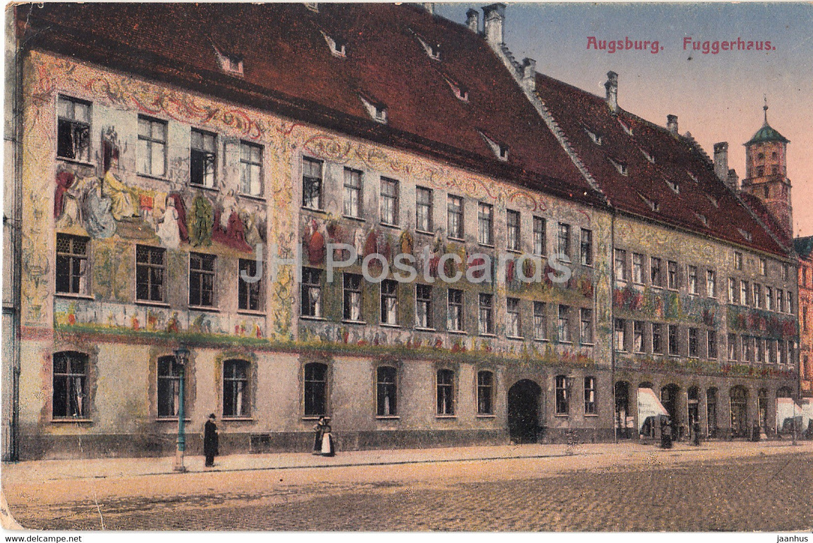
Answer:
<svg viewBox="0 0 813 543"><path fill-rule="evenodd" d="M485 40L415 6L320 4L315 13L303 4L46 2L18 10L32 47L602 203ZM346 43L346 58L331 53L322 32ZM440 61L415 33L440 44ZM215 47L243 59L242 78L221 73ZM467 102L443 72L468 90ZM360 95L386 106L386 125L370 119ZM507 162L480 132L508 146Z"/></svg>

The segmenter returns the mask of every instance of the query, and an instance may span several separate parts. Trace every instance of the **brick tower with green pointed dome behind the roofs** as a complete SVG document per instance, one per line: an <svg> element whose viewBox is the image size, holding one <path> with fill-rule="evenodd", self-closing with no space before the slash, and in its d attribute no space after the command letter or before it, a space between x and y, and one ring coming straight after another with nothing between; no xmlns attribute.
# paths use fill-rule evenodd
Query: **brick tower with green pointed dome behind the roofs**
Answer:
<svg viewBox="0 0 813 543"><path fill-rule="evenodd" d="M746 177L742 191L762 200L789 236L793 236L793 208L790 205L787 145L790 141L765 122L746 144Z"/></svg>

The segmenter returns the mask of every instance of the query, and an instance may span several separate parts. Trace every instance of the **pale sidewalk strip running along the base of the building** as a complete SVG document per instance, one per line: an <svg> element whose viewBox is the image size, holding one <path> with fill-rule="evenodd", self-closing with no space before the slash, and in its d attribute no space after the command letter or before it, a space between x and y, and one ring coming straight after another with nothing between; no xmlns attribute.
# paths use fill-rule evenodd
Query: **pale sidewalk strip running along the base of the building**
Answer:
<svg viewBox="0 0 813 543"><path fill-rule="evenodd" d="M494 459L545 459L566 456L613 455L638 457L641 455L671 455L703 459L717 459L741 455L781 453L813 453L813 442L703 442L701 446L678 442L672 449L662 450L654 445L637 442L586 443L567 445L505 445L468 446L437 449L351 450L338 452L334 457L308 453L276 453L262 455L225 455L215 459L214 468L203 467L202 456L188 456L185 467L189 472L246 472L274 469L339 468L349 466L377 466L406 463L474 462ZM2 464L3 485L33 481L61 481L73 479L103 479L133 476L154 476L175 473L174 456L159 458L103 458L81 460L30 460ZM180 476L180 474L179 474Z"/></svg>

